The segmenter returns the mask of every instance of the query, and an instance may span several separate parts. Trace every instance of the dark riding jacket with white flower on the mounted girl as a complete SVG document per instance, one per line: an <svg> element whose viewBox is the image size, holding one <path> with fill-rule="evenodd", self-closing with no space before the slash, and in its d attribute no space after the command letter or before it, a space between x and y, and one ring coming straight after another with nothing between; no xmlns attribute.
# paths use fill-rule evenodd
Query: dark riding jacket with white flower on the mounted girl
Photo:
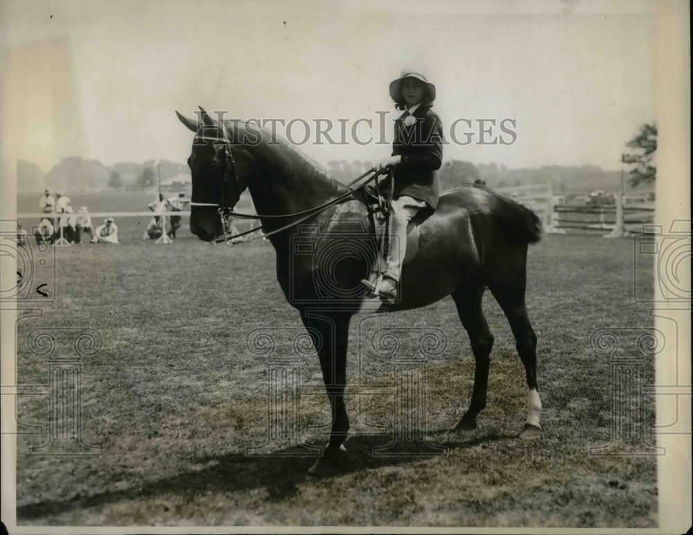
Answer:
<svg viewBox="0 0 693 535"><path fill-rule="evenodd" d="M439 116L421 104L412 116L416 122L405 126L405 112L395 121L392 155L401 155L394 168L394 198L409 195L423 200L431 208L438 204L436 170L443 158L443 127Z"/></svg>

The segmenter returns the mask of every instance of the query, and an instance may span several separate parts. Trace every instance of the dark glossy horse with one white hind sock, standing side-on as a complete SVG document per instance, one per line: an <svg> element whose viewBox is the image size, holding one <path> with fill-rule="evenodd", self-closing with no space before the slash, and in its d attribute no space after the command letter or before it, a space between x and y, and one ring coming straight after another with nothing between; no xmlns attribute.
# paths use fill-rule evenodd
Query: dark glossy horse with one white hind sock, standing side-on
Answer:
<svg viewBox="0 0 693 535"><path fill-rule="evenodd" d="M369 243L374 236L364 195L259 125L216 120L201 107L198 120L176 114L195 133L188 157L191 232L207 242L220 240L224 213L249 190L256 217L277 253L279 286L315 345L331 407L330 438L313 468L343 463L349 432L344 405L349 322L366 299L361 279L377 261L374 254L353 249L354 243ZM541 220L499 193L462 187L440 195L435 211L423 209L414 223L418 250L403 267L398 299L383 302L380 309L410 310L453 298L475 358L471 402L453 429L472 430L486 407L493 347L482 311L488 288L507 317L525 366L527 420L520 437L541 437L536 335L525 306L527 249L541 239ZM345 244L341 252L334 247L339 243ZM321 250L328 254L320 256Z"/></svg>

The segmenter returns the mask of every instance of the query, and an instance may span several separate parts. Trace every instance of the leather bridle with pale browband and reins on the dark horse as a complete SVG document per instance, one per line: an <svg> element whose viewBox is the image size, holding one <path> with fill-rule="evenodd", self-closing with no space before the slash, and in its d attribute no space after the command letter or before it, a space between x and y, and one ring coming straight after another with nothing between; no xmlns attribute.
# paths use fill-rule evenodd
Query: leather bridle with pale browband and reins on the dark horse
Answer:
<svg viewBox="0 0 693 535"><path fill-rule="evenodd" d="M369 182L372 182L376 180L380 175L385 175L387 173L389 175L389 180L390 182L394 182L394 175L392 173L392 167L387 166L383 169L380 169L378 171L375 170L375 168L370 168L367 170L365 173L360 175L360 177L357 177L356 179L353 179L349 184L347 184L347 188L349 188L349 191L347 193L342 193L342 195L339 195L337 198L334 198L333 200L329 200L328 202L324 202L323 204L320 204L317 207L310 208L308 210L300 211L300 212L295 212L295 213L285 213L281 215L260 215L256 213L240 213L240 212L234 212L234 210L227 205L227 194L229 192L229 182L233 181L233 183L236 186L236 191L240 191L240 184L238 183L238 173L236 171L236 161L234 160L234 154L231 152L231 141L229 139L226 139L225 137L209 137L209 136L195 136L193 139L193 144L198 142L198 141L212 141L213 143L224 143L224 161L222 162L222 192L221 192L221 203L218 202L191 202L190 205L191 207L207 207L207 208L213 208L216 207L217 213L219 214L219 218L221 220L221 225L222 229L224 231L223 236L219 236L216 238L215 242L220 242L223 241L227 245L231 244L231 225L229 225L228 218L229 217L234 217L238 219L287 219L287 218L295 218L298 217L299 219L293 222L288 223L288 225L284 225L283 227L279 229L274 229L273 231L266 232L264 233L264 236L257 236L255 238L251 238L250 240L247 241L254 241L257 239L261 238L267 238L267 236L272 236L272 234L278 234L279 232L285 231L287 229L290 229L291 227L295 227L295 225L298 225L301 222L304 222L305 220L312 218L313 216L317 216L319 213L322 213L326 209L335 206L335 204L340 204L342 202L346 202L347 200L353 199L353 194L356 193L356 191L364 188ZM359 182L362 178L366 177L367 175L373 173L369 179L367 179L365 182L360 184L356 188L351 188L353 184L356 184ZM377 186L378 182L376 182ZM394 184L390 184L390 191L392 192L392 186ZM249 229L245 232L240 232L239 234L235 234L233 238L239 238L240 236L245 236L246 234L252 234L253 232L256 232L258 230L261 230L263 228L263 225L260 225L259 227L254 227L252 229Z"/></svg>

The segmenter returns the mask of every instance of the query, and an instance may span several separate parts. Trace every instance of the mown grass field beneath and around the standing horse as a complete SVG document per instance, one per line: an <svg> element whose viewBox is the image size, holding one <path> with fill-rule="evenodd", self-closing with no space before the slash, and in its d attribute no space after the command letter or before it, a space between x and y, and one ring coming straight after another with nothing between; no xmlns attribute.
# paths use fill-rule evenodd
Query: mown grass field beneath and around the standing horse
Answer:
<svg viewBox="0 0 693 535"><path fill-rule="evenodd" d="M362 336L409 329L403 343L410 346L414 328L439 328L447 338L446 349L428 358L421 426L448 453L374 455L393 426L392 364L358 351L355 320L349 381L383 393L357 396L347 388L349 465L317 479L307 474L313 458L246 455L265 444L269 417L267 362L246 347L247 334L271 329L281 356L296 354L300 333L269 243L132 240L66 247L57 257L55 304L17 323L17 382L48 383L46 357L26 347L34 328L64 328L55 336L66 353L80 328L98 331L103 349L82 362L81 416L82 439L103 452L28 455L47 439L49 396L19 396L19 421L44 426L42 435L17 439L20 525L656 526L655 458L590 454L590 446L610 441L613 397L610 362L590 347L590 335L652 326L647 304L633 299L632 240L549 235L529 249L527 306L544 407L538 441L516 438L526 416L524 369L487 295L495 346L488 405L473 432L448 431L466 410L473 380L451 299L362 322ZM651 292L651 271L639 272L638 284ZM308 395L322 385L317 357L299 358L306 387L300 421L315 426L304 438L324 444L328 403ZM653 362L645 368L651 382ZM653 420L647 399L644 427ZM374 434L376 425L385 433ZM629 453L635 446L617 447ZM300 450L298 439L278 438L261 451Z"/></svg>

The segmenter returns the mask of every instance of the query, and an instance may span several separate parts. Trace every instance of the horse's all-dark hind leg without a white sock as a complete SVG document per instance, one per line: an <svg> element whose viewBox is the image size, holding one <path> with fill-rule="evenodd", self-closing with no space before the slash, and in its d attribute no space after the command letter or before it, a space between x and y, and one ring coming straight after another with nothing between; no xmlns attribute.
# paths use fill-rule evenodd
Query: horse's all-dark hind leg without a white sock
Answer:
<svg viewBox="0 0 693 535"><path fill-rule="evenodd" d="M481 302L484 297L484 286L469 286L453 293L457 306L457 315L462 322L474 353L474 389L467 412L455 424L455 430L476 428L476 417L486 407L486 389L489 385L489 364L493 335L486 324Z"/></svg>

